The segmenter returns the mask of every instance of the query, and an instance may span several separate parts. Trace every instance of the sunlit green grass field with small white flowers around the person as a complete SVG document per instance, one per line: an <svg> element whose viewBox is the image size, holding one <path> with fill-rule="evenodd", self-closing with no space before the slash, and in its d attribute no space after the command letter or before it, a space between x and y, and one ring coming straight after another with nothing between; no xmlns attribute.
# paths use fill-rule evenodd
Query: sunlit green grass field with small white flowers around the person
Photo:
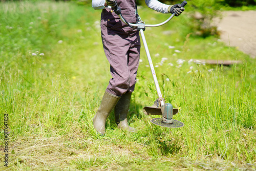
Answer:
<svg viewBox="0 0 256 171"><path fill-rule="evenodd" d="M168 17L148 8L139 13L148 24ZM0 16L0 170L255 170L256 60L217 37L189 36L186 12L145 31L162 94L185 126L165 129L142 113L157 99L142 46L129 111L138 132L118 130L112 114L104 137L92 124L111 78L100 11L25 1L0 3Z"/></svg>

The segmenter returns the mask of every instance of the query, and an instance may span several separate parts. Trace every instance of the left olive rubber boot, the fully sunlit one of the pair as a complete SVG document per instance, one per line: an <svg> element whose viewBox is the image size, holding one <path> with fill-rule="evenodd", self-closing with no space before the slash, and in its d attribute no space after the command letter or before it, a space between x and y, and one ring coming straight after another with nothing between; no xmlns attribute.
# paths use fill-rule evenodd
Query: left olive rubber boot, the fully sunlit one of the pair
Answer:
<svg viewBox="0 0 256 171"><path fill-rule="evenodd" d="M120 97L105 92L101 100L99 109L93 118L93 127L98 134L105 134L106 118L110 115Z"/></svg>

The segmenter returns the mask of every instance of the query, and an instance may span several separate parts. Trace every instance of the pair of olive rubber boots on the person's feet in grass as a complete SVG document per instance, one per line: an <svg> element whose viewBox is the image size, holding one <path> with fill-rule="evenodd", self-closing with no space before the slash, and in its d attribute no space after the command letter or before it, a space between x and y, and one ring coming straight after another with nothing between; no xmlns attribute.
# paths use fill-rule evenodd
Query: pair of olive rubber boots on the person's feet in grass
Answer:
<svg viewBox="0 0 256 171"><path fill-rule="evenodd" d="M121 97L105 92L97 113L93 118L93 126L98 134L105 134L106 118L114 108L115 122L121 130L135 132L133 127L127 123L127 113L131 101L132 93L123 94Z"/></svg>

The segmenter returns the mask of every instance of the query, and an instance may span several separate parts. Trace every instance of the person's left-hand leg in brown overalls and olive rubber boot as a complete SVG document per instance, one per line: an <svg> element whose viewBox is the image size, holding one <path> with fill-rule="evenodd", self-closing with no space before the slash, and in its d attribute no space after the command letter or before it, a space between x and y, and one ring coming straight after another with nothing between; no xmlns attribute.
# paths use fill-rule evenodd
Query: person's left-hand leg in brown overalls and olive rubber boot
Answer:
<svg viewBox="0 0 256 171"><path fill-rule="evenodd" d="M110 62L111 75L109 85L106 88L101 104L94 116L94 128L99 134L105 133L105 122L115 107L119 98L127 92L130 85L130 71L127 65L127 51L129 41L117 33L109 34L111 30L102 29L103 48Z"/></svg>

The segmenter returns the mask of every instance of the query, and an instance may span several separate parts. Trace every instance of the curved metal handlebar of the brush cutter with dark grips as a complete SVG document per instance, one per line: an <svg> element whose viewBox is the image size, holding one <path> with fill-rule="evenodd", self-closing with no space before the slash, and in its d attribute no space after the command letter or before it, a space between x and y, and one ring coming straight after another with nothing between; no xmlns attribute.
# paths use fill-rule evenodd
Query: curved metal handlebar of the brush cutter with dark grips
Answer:
<svg viewBox="0 0 256 171"><path fill-rule="evenodd" d="M187 2L186 1L183 1L181 3L181 7L185 7L187 5ZM117 6L117 4L112 7L115 11L115 13L119 16L119 18L122 20L123 23L129 25L129 26L132 26L132 27L138 27L138 26L144 26L144 27L158 27L158 26L162 26L164 25L165 23L169 22L170 19L172 19L174 17L174 13L172 14L172 16L170 16L167 20L165 20L164 22L160 23L160 24L156 24L156 25L145 25L145 24L132 24L132 23L128 23L126 22L126 20L123 18L122 14L121 14L121 8Z"/></svg>

